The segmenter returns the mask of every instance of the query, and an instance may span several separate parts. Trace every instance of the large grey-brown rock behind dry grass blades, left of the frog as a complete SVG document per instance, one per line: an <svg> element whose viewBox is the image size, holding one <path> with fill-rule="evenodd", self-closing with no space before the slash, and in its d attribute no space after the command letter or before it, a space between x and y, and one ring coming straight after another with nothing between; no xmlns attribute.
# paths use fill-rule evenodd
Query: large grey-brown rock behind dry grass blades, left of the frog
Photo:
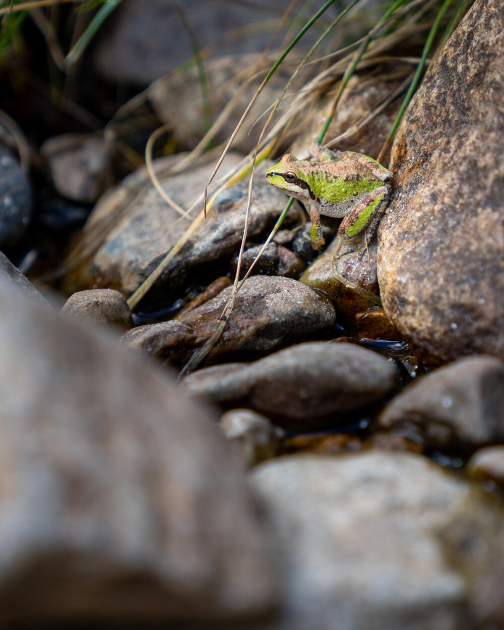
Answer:
<svg viewBox="0 0 504 630"><path fill-rule="evenodd" d="M236 154L229 155L222 172L237 161ZM173 166L173 161L168 164ZM268 165L261 164L256 174L249 238L266 234L284 205L285 195L275 191L261 176ZM159 162L158 168L162 167L163 161ZM200 168L193 167L190 174L158 177L168 195L188 209L203 192L213 168L212 161ZM222 275L216 262L223 257L227 262L226 256L239 248L247 188L247 182L241 181L219 193L207 219L201 218L197 228L140 302L140 310L155 311L171 304L181 297L192 279L197 278L198 284L203 284ZM66 290L76 292L104 287L120 290L129 297L175 246L189 225L160 197L145 171L130 175L112 193L106 193L90 215L74 252L85 249L86 243L92 248L97 238L101 239L101 245L98 241L98 249L96 246L95 252L91 249L91 255L85 256L87 262L84 263L71 253L67 261Z"/></svg>

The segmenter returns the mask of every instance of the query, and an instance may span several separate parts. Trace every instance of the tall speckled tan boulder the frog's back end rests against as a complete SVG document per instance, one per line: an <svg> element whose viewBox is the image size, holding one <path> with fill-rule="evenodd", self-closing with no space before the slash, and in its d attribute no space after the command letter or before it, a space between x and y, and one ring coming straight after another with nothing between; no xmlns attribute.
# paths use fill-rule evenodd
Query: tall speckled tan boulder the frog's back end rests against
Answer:
<svg viewBox="0 0 504 630"><path fill-rule="evenodd" d="M392 147L379 236L384 309L430 364L504 356L504 6L478 0Z"/></svg>

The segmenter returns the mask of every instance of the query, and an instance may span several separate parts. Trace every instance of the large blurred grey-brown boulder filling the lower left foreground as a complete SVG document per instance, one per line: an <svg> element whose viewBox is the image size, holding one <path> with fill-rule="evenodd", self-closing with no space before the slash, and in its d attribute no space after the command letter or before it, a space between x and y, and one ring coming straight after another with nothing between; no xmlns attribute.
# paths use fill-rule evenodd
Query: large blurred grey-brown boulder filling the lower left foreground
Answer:
<svg viewBox="0 0 504 630"><path fill-rule="evenodd" d="M241 466L169 375L0 284L0 622L220 625L276 600Z"/></svg>

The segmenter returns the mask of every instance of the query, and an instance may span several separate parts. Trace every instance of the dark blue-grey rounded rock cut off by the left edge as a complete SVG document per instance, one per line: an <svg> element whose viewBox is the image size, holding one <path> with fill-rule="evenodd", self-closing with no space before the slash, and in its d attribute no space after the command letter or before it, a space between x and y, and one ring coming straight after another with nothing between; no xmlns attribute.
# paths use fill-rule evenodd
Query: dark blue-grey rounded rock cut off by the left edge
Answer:
<svg viewBox="0 0 504 630"><path fill-rule="evenodd" d="M30 220L30 181L20 163L0 144L0 246L15 245Z"/></svg>

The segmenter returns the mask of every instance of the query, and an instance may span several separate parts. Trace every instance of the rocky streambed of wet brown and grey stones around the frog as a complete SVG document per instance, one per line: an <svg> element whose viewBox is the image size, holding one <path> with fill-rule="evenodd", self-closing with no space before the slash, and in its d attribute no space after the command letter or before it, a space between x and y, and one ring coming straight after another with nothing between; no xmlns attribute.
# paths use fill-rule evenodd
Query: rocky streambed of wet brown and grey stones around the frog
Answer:
<svg viewBox="0 0 504 630"><path fill-rule="evenodd" d="M190 225L144 168L67 252L62 308L0 256L1 624L504 627L503 20L500 2L476 0L430 66L392 146L377 240L335 261L329 219L316 257L294 205L179 380L231 297L245 181L210 190L207 218L133 309ZM384 83L355 79L331 134ZM353 148L376 156L397 107ZM214 161L174 174L179 157L154 169L188 208ZM270 164L245 270L285 205ZM0 166L15 184L8 243L27 184L10 154Z"/></svg>

